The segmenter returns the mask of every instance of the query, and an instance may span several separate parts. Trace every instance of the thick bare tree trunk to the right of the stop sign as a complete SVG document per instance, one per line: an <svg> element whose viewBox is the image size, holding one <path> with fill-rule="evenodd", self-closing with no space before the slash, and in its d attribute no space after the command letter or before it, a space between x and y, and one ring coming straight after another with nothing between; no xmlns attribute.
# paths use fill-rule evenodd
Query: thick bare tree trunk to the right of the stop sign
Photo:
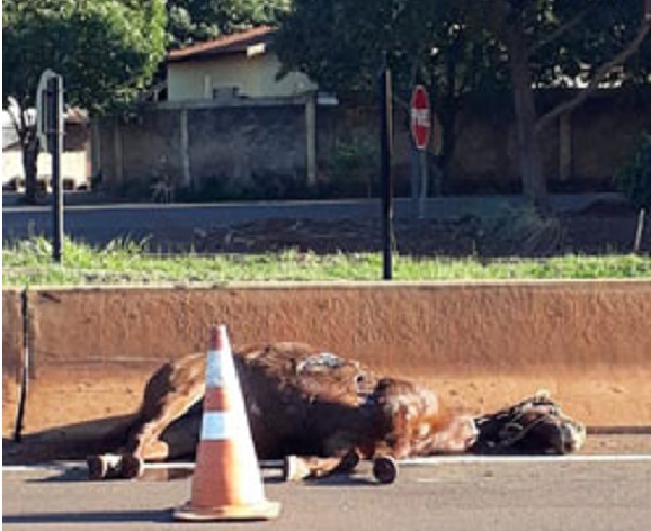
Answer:
<svg viewBox="0 0 651 531"><path fill-rule="evenodd" d="M547 185L542 168L541 137L536 131L537 113L528 50L525 39L518 35L511 35L507 46L515 104L518 167L522 179L522 192L532 206L544 212L548 210Z"/></svg>

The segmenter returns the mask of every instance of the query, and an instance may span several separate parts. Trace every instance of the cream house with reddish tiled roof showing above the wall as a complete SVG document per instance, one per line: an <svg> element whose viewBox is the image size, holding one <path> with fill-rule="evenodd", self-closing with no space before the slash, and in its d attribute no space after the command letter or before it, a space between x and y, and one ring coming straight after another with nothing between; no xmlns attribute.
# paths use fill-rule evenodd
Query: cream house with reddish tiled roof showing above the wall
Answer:
<svg viewBox="0 0 651 531"><path fill-rule="evenodd" d="M167 56L169 101L293 97L317 89L305 74L277 79L275 29L257 27L171 51Z"/></svg>

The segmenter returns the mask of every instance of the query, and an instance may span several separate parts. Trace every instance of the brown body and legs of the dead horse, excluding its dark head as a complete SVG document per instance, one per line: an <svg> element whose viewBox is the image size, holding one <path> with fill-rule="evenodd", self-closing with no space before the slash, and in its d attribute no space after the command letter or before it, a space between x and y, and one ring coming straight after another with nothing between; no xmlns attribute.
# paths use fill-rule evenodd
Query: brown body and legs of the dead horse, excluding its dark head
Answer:
<svg viewBox="0 0 651 531"><path fill-rule="evenodd" d="M91 478L135 477L144 462L194 454L202 420L205 353L163 365L148 381L118 454L89 457ZM392 481L394 459L464 452L473 418L448 409L432 390L378 378L359 362L305 343L280 342L234 353L252 438L261 459L285 458L297 479L349 470L375 459Z"/></svg>

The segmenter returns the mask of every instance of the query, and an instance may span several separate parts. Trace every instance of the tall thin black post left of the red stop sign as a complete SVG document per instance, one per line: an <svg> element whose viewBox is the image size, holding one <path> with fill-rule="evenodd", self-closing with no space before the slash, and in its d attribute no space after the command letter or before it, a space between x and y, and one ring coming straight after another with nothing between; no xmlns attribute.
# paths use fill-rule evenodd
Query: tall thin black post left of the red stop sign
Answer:
<svg viewBox="0 0 651 531"><path fill-rule="evenodd" d="M383 278L392 279L393 245L393 182L391 172L392 157L392 89L391 71L386 63L380 74L380 143L381 143L381 178L382 178L382 242L383 242Z"/></svg>

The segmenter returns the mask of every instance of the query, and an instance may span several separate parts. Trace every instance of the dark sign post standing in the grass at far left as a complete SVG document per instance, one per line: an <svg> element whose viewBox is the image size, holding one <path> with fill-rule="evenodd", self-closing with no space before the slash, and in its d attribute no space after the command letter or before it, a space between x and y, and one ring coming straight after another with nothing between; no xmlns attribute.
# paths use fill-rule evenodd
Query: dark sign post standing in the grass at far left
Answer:
<svg viewBox="0 0 651 531"><path fill-rule="evenodd" d="M63 153L63 83L60 76L48 80L47 134L52 156L52 260L61 263L63 245L63 187L61 156Z"/></svg>

